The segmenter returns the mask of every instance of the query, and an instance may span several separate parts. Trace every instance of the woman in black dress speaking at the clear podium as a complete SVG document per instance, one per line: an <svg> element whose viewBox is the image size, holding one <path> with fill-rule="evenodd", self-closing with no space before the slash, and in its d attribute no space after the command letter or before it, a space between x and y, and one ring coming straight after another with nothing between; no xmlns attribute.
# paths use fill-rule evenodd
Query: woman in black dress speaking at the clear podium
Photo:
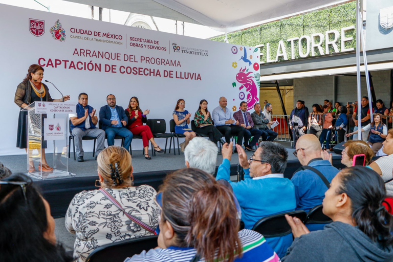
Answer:
<svg viewBox="0 0 393 262"><path fill-rule="evenodd" d="M48 102L62 102L63 99L52 99L49 94L48 86L43 84L43 68L38 64L32 64L29 67L26 78L18 85L15 92L15 104L21 109L29 107L29 104L37 101L48 101ZM70 100L70 96L64 96L64 101ZM27 108L28 109L28 108ZM41 118L47 118L46 114L42 114ZM42 125L43 127L43 125ZM40 149L39 144L42 145L42 156L41 163L38 165L38 170L41 171L52 171L45 158L45 148L47 148L47 141L41 138L42 143L39 139L34 145L34 141L31 141L31 145L27 146L27 112L19 112L18 120L18 133L16 139L16 147L25 148L26 152L28 149ZM29 159L29 172L35 171L34 163L32 159Z"/></svg>

